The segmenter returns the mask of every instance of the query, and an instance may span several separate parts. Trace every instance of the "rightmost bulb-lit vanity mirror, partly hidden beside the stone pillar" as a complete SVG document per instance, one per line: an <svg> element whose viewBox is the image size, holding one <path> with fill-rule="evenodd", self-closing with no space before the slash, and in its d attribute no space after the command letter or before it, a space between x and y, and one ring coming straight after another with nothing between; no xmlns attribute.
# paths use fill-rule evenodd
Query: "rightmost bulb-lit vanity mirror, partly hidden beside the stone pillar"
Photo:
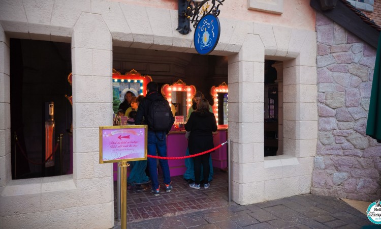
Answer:
<svg viewBox="0 0 381 229"><path fill-rule="evenodd" d="M228 124L228 84L223 82L218 87L213 86L210 89L210 95L213 98L213 113L217 121L217 125Z"/></svg>

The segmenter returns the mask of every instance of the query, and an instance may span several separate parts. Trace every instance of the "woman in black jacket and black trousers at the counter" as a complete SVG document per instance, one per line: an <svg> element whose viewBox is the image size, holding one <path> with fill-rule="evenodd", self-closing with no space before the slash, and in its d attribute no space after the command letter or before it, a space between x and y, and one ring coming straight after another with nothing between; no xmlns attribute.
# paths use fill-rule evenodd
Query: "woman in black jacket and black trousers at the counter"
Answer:
<svg viewBox="0 0 381 229"><path fill-rule="evenodd" d="M217 130L214 114L209 111L209 102L202 98L198 102L197 109L189 116L185 124L185 130L190 131L188 148L191 155L210 150L214 147L213 131ZM203 166L204 188L209 188L209 164L210 153L193 158L195 169L195 183L189 187L200 189L201 165Z"/></svg>

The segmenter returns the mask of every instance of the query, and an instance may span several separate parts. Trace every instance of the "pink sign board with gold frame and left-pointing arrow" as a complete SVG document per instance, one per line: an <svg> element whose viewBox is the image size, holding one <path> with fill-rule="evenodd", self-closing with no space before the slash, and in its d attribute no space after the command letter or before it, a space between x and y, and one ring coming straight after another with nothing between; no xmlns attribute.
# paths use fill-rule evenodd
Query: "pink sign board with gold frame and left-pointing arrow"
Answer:
<svg viewBox="0 0 381 229"><path fill-rule="evenodd" d="M99 163L139 160L147 160L147 125L99 127Z"/></svg>

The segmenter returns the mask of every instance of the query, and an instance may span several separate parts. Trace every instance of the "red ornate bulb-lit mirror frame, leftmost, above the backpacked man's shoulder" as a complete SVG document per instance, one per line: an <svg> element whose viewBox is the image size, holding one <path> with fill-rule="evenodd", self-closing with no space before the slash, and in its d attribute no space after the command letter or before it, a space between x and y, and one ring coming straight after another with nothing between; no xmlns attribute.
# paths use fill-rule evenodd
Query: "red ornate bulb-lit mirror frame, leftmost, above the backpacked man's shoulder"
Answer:
<svg viewBox="0 0 381 229"><path fill-rule="evenodd" d="M112 69L112 82L139 82L140 90L138 92L139 95L145 96L147 94L147 84L152 81L151 76L145 75L142 76L135 69L132 69L130 72L126 72L124 75L120 74L120 72ZM139 96L136 95L136 96Z"/></svg>

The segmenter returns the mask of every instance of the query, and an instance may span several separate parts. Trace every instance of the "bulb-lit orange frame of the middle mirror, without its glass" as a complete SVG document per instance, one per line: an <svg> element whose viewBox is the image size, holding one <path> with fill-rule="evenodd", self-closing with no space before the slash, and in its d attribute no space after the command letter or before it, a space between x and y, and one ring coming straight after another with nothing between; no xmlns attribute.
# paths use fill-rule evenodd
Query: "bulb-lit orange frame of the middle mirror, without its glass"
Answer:
<svg viewBox="0 0 381 229"><path fill-rule="evenodd" d="M168 100L169 104L172 103L172 92L186 92L186 115L188 115L189 107L192 106L192 96L196 94L196 87L194 85L186 85L181 79L169 85L164 84L162 87L162 94Z"/></svg>

